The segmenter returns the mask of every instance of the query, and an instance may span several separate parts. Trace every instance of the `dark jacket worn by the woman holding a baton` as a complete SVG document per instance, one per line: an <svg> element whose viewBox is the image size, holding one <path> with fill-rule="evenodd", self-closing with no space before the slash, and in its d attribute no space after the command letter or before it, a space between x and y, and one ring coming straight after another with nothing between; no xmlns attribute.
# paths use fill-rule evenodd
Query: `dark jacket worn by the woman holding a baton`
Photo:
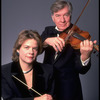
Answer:
<svg viewBox="0 0 100 100"><path fill-rule="evenodd" d="M53 69L49 64L34 63L33 87L40 94L48 93L53 95L54 80ZM12 75L26 83L19 63L11 62L3 65L1 68L1 88L2 97L4 100L33 100L39 96L27 86L14 79Z"/></svg>

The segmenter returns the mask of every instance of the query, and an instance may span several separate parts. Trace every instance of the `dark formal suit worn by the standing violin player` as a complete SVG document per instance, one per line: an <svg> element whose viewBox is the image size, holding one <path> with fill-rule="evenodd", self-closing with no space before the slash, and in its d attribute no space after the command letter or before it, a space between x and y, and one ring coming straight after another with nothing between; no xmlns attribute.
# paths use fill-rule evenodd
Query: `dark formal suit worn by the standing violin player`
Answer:
<svg viewBox="0 0 100 100"><path fill-rule="evenodd" d="M70 26L71 27L71 26ZM55 26L46 27L41 37L45 41L48 37L56 37ZM54 60L55 51L51 46L46 47L44 63L54 66L56 79L57 100L83 100L79 73L85 74L91 63L82 66L80 60L80 50L75 50L70 44L67 44L56 60Z"/></svg>

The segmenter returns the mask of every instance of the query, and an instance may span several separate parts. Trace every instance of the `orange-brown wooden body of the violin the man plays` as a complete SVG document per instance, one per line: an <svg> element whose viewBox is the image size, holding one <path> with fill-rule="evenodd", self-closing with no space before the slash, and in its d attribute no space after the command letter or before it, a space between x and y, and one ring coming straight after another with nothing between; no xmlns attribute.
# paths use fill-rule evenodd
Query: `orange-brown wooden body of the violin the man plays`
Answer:
<svg viewBox="0 0 100 100"><path fill-rule="evenodd" d="M74 34L74 33L76 33L76 34ZM77 38L74 35L78 35ZM80 42L81 41L86 40L86 39L88 39L88 40L91 39L91 36L90 36L89 32L82 31L77 26L75 26L73 28L73 31L71 33L71 36L69 36L68 33L63 32L63 33L61 33L59 35L59 37L62 38L62 39L64 39L65 40L65 43L66 44L69 43L74 49L79 49L80 48ZM67 37L68 37L68 39L66 40Z"/></svg>

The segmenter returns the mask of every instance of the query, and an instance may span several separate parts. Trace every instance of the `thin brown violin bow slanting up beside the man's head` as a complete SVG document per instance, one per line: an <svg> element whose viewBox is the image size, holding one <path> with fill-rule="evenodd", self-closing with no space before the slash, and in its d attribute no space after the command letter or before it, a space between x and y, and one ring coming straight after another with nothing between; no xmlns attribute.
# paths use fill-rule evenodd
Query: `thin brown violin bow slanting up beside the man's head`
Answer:
<svg viewBox="0 0 100 100"><path fill-rule="evenodd" d="M76 23L78 22L78 20L80 19L81 15L83 14L85 8L87 7L88 3L89 3L90 0L87 1L87 3L85 4L83 10L81 11L79 17L77 18L76 22L73 24L73 27L71 28L71 30L68 32L68 36L65 38L65 42L68 40L68 38L73 34L73 29L76 25Z"/></svg>

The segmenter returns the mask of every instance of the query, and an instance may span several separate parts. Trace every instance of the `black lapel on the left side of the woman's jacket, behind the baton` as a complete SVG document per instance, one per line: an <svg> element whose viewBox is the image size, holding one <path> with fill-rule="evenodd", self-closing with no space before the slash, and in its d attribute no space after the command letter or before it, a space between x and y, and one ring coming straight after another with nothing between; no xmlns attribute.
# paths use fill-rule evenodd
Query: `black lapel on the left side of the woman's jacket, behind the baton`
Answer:
<svg viewBox="0 0 100 100"><path fill-rule="evenodd" d="M17 77L19 80L26 83L24 75L21 70L21 67L19 65L19 62L13 62L12 67L11 67L11 73L15 77ZM16 87L18 88L18 90L24 97L30 96L27 86L23 85L21 82L19 82L14 77L12 77L12 79L13 79Z"/></svg>

